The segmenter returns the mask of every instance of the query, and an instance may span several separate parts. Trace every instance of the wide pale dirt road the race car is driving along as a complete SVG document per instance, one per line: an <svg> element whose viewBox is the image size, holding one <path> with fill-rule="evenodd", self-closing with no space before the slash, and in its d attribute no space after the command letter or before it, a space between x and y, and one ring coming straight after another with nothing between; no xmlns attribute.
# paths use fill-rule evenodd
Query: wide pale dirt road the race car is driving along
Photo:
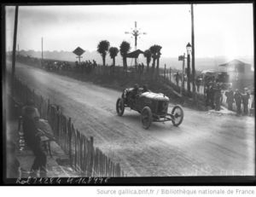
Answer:
<svg viewBox="0 0 256 197"><path fill-rule="evenodd" d="M10 65L8 64L8 69ZM72 117L85 136L119 162L127 176L254 175L254 119L184 109L183 124L154 123L115 112L120 92L17 63L17 76ZM171 110L172 104L169 109Z"/></svg>

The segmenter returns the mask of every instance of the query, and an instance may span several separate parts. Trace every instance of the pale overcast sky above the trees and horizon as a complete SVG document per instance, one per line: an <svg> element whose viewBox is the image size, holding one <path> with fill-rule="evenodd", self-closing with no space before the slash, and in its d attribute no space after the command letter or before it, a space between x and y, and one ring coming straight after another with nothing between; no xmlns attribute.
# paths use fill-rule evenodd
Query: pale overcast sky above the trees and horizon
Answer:
<svg viewBox="0 0 256 197"><path fill-rule="evenodd" d="M253 55L253 4L196 4L195 56L228 58ZM6 47L12 49L15 8L6 7ZM73 51L80 46L96 50L107 39L119 47L134 38L125 34L134 27L147 32L138 39L138 49L162 46L162 56L177 57L191 42L189 4L20 6L18 37L20 49Z"/></svg>

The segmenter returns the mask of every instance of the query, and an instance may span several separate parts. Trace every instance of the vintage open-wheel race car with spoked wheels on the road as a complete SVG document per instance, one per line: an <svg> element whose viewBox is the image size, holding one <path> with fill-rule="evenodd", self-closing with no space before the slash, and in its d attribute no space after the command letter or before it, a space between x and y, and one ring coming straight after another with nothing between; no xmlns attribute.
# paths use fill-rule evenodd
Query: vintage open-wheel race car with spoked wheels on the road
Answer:
<svg viewBox="0 0 256 197"><path fill-rule="evenodd" d="M125 89L122 96L116 101L116 112L122 116L125 107L141 113L141 120L144 129L148 129L152 122L172 121L174 126L183 122L183 108L176 105L172 113L168 113L169 98L161 93L151 91L143 92L142 89L134 95L133 88Z"/></svg>

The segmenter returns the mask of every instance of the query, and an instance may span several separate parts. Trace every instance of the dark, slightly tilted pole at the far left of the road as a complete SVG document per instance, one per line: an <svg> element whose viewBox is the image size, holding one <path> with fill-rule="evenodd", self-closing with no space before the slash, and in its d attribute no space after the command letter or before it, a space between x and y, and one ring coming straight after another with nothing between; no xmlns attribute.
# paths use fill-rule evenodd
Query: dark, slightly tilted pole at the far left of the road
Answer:
<svg viewBox="0 0 256 197"><path fill-rule="evenodd" d="M16 61L18 11L19 11L19 6L16 6L15 7L15 31L14 31L14 43L13 43L13 59L12 59L12 90L11 90L12 96L14 96L14 88L15 88L15 61Z"/></svg>

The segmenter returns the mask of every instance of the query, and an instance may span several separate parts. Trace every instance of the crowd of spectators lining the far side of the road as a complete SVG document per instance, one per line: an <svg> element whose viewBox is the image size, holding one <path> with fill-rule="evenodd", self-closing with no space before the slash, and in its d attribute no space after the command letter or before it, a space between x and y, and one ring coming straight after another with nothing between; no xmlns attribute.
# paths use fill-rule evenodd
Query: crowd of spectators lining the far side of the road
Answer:
<svg viewBox="0 0 256 197"><path fill-rule="evenodd" d="M80 73L90 73L94 71L96 67L100 67L100 65L97 64L95 60L81 61L80 63L78 61L75 61L73 64L72 62L67 61L41 61L40 59L30 57L29 55L18 55L17 60L21 63L23 62L28 65L37 65L38 67L41 66L48 71L73 71ZM113 66L110 66L110 68L112 70ZM141 75L145 71L145 66L143 63L138 63L137 66L133 69L134 72L137 72L139 75ZM114 71L114 69L112 71ZM176 72L173 75L175 84L179 86L182 75L179 72ZM185 75L184 82L186 82L187 80L188 78ZM205 96L206 106L211 107L216 111L219 111L221 109L220 106L223 103L223 98L225 96L226 100L224 102L229 110L236 111L237 115L253 114L254 90L248 90L247 88L245 88L244 90L232 90L229 85L227 86L227 84L221 83L220 81L219 78L215 78L214 76L207 76L205 78L203 78L202 76L198 76L197 78L195 78L196 91L200 93L200 87L203 87L203 89L201 90L203 91L202 94ZM224 92L224 90L226 91Z"/></svg>

